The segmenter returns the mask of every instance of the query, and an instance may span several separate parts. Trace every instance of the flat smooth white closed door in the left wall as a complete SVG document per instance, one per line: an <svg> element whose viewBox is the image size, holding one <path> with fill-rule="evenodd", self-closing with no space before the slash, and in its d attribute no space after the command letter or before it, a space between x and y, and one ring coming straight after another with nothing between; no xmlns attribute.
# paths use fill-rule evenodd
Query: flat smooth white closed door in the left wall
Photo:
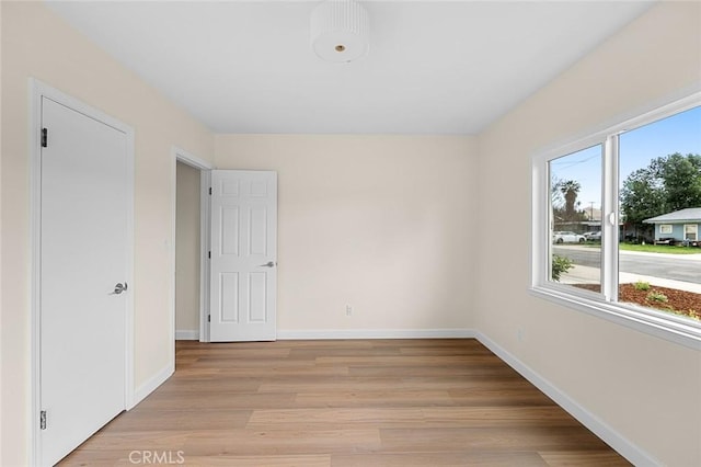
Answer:
<svg viewBox="0 0 701 467"><path fill-rule="evenodd" d="M46 96L42 127L39 463L54 465L126 407L130 175L125 133Z"/></svg>

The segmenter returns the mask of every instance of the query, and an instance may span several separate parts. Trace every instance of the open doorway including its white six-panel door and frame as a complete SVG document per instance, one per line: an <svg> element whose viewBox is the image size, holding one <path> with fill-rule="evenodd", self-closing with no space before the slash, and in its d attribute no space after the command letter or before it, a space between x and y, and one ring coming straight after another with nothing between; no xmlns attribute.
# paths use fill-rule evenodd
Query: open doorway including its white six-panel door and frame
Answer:
<svg viewBox="0 0 701 467"><path fill-rule="evenodd" d="M275 340L277 173L173 161L173 343Z"/></svg>

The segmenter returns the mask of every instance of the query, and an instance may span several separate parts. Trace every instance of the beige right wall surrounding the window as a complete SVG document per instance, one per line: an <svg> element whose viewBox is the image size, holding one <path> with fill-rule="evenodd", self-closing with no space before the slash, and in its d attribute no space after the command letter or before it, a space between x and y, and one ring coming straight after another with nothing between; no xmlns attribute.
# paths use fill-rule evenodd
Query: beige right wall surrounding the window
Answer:
<svg viewBox="0 0 701 467"><path fill-rule="evenodd" d="M701 465L701 353L528 294L530 158L701 80L701 3L654 7L479 138L476 328L669 466ZM508 168L508 169L506 169ZM504 248L509 246L509 248ZM522 331L522 340L518 332Z"/></svg>

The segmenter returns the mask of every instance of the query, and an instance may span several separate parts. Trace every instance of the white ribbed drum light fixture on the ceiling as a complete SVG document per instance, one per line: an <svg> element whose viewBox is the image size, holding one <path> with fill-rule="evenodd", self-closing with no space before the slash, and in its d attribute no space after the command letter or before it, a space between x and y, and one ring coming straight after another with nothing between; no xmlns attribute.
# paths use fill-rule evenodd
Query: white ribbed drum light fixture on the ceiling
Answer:
<svg viewBox="0 0 701 467"><path fill-rule="evenodd" d="M355 0L325 0L311 12L311 45L326 61L347 62L369 48L368 12Z"/></svg>

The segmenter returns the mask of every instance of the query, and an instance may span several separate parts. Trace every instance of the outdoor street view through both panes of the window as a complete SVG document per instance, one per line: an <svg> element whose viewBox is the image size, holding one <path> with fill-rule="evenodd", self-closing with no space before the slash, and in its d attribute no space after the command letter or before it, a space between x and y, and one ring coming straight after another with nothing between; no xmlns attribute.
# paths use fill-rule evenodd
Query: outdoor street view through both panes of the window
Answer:
<svg viewBox="0 0 701 467"><path fill-rule="evenodd" d="M701 106L604 139L548 161L548 281L600 297L611 257L607 300L701 321ZM617 184L614 224L605 180Z"/></svg>

